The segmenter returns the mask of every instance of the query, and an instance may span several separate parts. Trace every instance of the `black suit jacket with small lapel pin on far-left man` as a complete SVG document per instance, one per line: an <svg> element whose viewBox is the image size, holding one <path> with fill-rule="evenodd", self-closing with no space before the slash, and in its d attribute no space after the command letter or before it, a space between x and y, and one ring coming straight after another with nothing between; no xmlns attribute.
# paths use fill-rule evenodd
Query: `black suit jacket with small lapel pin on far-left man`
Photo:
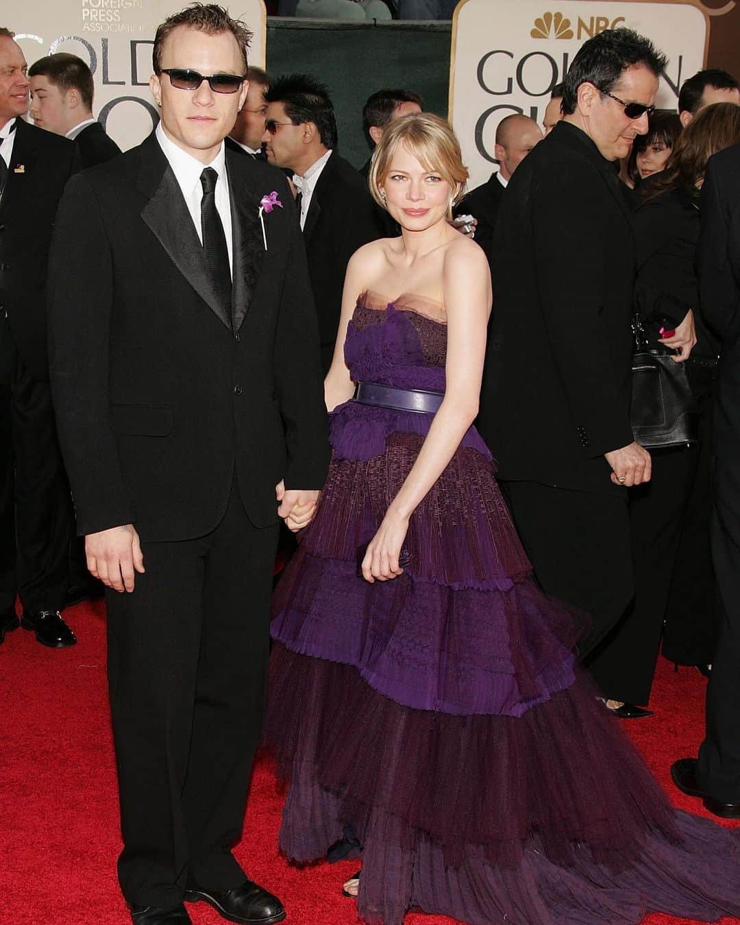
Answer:
<svg viewBox="0 0 740 925"><path fill-rule="evenodd" d="M46 265L54 216L65 183L80 169L74 142L16 119L16 138L0 201L0 306L36 379L46 358Z"/></svg>

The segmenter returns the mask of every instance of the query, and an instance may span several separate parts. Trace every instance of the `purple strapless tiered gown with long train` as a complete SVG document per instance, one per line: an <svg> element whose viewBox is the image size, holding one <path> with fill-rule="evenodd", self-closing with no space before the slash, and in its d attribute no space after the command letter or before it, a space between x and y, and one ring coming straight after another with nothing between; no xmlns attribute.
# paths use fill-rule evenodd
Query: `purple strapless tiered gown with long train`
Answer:
<svg viewBox="0 0 740 925"><path fill-rule="evenodd" d="M423 313L361 298L352 378L443 391L447 330ZM281 849L312 861L351 824L374 925L411 907L472 925L740 916L740 833L673 809L598 700L573 660L582 618L534 584L475 428L413 513L401 577L360 576L431 420L331 415L327 485L273 598Z"/></svg>

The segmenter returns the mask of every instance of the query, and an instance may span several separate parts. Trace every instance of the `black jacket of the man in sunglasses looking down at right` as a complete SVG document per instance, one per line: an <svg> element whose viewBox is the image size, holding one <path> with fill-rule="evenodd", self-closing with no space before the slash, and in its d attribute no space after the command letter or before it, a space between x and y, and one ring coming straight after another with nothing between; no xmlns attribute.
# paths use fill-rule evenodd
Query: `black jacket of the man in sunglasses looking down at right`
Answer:
<svg viewBox="0 0 740 925"><path fill-rule="evenodd" d="M633 441L635 245L620 187L586 133L559 122L501 199L479 417L501 478L620 491L603 458Z"/></svg>

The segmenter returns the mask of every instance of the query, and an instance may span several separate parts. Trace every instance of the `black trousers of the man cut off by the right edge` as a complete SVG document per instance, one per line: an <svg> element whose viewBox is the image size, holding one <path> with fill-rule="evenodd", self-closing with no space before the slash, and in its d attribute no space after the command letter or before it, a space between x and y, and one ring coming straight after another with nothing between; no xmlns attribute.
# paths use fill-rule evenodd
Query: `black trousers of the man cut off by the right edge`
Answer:
<svg viewBox="0 0 740 925"><path fill-rule="evenodd" d="M723 803L740 803L740 467L712 465L711 551L717 581L719 635L707 687L707 730L698 781Z"/></svg>

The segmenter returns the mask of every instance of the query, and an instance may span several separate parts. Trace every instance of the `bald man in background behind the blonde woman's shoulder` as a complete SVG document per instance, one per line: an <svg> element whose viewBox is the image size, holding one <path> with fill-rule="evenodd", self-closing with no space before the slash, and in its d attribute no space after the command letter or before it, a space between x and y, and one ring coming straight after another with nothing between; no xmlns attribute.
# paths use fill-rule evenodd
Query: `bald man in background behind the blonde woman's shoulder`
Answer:
<svg viewBox="0 0 740 925"><path fill-rule="evenodd" d="M527 154L542 141L542 131L533 118L514 114L501 119L496 129L494 154L499 170L492 173L482 186L462 198L454 210L455 216L472 215L477 219L475 241L491 259L491 243L499 203L514 170Z"/></svg>

